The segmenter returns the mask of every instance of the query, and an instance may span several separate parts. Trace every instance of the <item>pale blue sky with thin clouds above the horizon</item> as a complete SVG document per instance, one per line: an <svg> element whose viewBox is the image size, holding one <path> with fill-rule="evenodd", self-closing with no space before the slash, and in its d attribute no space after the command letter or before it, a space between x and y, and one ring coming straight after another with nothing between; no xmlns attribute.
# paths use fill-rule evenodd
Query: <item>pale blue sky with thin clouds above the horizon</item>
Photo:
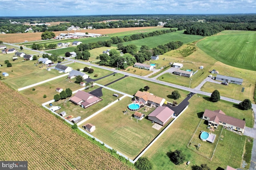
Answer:
<svg viewBox="0 0 256 170"><path fill-rule="evenodd" d="M256 0L1 0L0 16L256 13Z"/></svg>

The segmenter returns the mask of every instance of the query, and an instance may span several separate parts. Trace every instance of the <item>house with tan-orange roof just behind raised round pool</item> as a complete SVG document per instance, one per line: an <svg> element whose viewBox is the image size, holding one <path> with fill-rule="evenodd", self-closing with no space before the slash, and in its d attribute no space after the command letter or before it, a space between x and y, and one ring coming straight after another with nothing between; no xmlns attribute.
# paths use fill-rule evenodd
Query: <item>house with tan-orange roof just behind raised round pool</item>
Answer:
<svg viewBox="0 0 256 170"><path fill-rule="evenodd" d="M134 95L136 97L136 99L139 102L142 102L143 104L147 105L147 106L162 106L165 102L164 98L160 98L158 96L154 96L153 94L149 93L149 92L141 92L141 91L137 91L136 94Z"/></svg>

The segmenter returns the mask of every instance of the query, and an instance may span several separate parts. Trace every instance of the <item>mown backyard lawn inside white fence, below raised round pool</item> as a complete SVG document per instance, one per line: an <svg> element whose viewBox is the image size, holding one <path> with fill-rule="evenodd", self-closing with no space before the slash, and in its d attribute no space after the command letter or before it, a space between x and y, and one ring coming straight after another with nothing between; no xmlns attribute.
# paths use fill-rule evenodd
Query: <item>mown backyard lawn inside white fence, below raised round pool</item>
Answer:
<svg viewBox="0 0 256 170"><path fill-rule="evenodd" d="M124 114L124 110L131 102L131 98L126 97L84 124L95 125L96 130L92 133L94 137L134 159L160 133L163 127L158 131L152 128L151 121L145 118L141 121L138 120L137 123L136 119L132 117L133 111ZM143 109L140 109L140 112L148 115L154 110L154 108L146 108L147 112L144 112Z"/></svg>

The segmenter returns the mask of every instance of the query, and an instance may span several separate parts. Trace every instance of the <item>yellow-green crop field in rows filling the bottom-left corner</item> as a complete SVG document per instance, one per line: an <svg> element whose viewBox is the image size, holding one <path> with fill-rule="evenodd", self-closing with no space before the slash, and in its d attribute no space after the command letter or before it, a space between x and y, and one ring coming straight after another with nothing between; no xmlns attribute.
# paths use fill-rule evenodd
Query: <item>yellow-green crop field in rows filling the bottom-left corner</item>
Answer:
<svg viewBox="0 0 256 170"><path fill-rule="evenodd" d="M28 161L29 170L131 169L3 82L0 99L0 160Z"/></svg>

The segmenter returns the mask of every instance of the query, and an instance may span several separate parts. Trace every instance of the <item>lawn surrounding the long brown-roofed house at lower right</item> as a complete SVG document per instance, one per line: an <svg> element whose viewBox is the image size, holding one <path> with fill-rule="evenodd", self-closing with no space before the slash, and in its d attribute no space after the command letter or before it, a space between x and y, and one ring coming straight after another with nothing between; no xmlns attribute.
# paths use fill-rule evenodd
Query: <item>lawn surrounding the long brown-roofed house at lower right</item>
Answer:
<svg viewBox="0 0 256 170"><path fill-rule="evenodd" d="M218 167L226 168L227 165L234 168L240 167L242 162L242 153L244 150L244 140L246 138L245 136L242 136L241 139L240 135L230 131L225 132L226 130L223 129L223 141L217 145L212 161L209 161L207 158L186 147L198 126L198 123L201 120L200 117L205 109L221 109L227 115L234 117L237 117L238 114L247 114L247 112L243 113L243 111L236 107L232 107L231 103L224 101L213 103L209 102L207 99L208 97L206 96L201 96L199 98L197 95L194 95L189 100L190 105L188 106L188 109L186 109L186 111L184 111L184 113L182 113L182 115L180 115L180 117L173 123L170 129L162 135L161 140L156 141L156 143L154 143L144 154L144 156L147 156L152 162L154 170L159 169L159 167L161 167L161 169L191 170L192 166L205 164L206 162L213 170ZM249 113L249 115L250 120L252 120L252 114ZM206 127L205 129L207 129ZM202 142L200 143L202 144ZM167 156L167 152L170 150L174 151L176 149L181 149L186 154L185 161L190 161L190 165L186 165L186 162L184 162L184 164L176 166L170 161L170 158Z"/></svg>

